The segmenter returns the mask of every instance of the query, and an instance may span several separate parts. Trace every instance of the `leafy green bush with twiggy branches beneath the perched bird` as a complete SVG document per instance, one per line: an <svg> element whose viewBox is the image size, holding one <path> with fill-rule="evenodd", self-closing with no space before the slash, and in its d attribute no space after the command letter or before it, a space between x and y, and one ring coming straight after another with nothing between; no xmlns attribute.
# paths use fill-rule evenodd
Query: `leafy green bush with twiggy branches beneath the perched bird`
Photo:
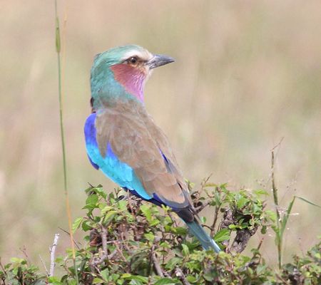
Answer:
<svg viewBox="0 0 321 285"><path fill-rule="evenodd" d="M260 246L250 257L240 254L258 229L265 233L275 223L274 212L265 210L263 190L233 192L205 182L192 190L196 209L213 211L207 227L216 232L220 254L203 250L167 207L120 190L107 195L101 186L86 193L86 215L73 223L73 230L87 234L86 247L76 251L76 266L70 249L56 258L64 272L59 277L11 259L0 267L3 284L320 284L320 244L280 270L265 264Z"/></svg>

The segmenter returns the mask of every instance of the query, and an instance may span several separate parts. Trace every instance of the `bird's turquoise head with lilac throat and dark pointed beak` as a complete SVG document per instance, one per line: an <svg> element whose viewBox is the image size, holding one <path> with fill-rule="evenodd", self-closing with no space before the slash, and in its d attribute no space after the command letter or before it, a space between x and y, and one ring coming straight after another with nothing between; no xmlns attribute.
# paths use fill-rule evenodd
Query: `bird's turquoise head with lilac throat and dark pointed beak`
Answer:
<svg viewBox="0 0 321 285"><path fill-rule="evenodd" d="M136 45L99 53L91 68L92 98L95 101L132 96L143 101L143 88L153 68L173 61L169 56L153 54Z"/></svg>

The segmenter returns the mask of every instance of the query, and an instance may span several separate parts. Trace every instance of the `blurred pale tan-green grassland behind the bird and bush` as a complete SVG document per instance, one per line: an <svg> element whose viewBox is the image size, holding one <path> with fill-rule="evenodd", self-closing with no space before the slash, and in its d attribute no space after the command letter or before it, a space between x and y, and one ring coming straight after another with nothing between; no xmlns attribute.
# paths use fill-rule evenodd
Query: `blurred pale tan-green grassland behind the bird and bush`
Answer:
<svg viewBox="0 0 321 285"><path fill-rule="evenodd" d="M185 177L270 190L270 149L286 207L292 195L320 204L321 1L59 1L67 11L66 125L73 217L83 190L112 189L89 164L93 56L137 43L176 62L154 72L146 105L168 134ZM54 1L0 2L0 256L48 260L67 229L58 128ZM317 240L320 209L295 202L285 261ZM209 215L210 213L208 213ZM276 261L274 237L263 254ZM253 244L258 244L255 237ZM68 247L61 234L59 250Z"/></svg>

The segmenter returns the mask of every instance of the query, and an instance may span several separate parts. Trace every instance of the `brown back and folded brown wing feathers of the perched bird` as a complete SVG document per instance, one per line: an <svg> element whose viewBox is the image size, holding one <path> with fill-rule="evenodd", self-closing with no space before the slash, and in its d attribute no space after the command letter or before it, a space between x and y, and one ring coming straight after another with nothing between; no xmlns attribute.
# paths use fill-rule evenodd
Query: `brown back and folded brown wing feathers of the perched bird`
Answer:
<svg viewBox="0 0 321 285"><path fill-rule="evenodd" d="M109 144L121 162L133 168L146 192L174 208L190 206L190 197L168 140L141 103L118 103L96 117L101 155Z"/></svg>

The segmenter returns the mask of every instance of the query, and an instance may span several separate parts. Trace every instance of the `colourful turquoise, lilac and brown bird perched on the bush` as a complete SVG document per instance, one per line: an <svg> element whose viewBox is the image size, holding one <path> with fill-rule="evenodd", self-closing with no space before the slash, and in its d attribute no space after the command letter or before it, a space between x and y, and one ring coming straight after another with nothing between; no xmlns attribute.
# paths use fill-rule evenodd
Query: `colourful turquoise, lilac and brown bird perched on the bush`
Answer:
<svg viewBox="0 0 321 285"><path fill-rule="evenodd" d="M110 180L143 200L170 207L204 249L220 252L201 226L168 138L144 102L145 83L154 68L173 61L137 45L95 56L86 151L93 167Z"/></svg>

